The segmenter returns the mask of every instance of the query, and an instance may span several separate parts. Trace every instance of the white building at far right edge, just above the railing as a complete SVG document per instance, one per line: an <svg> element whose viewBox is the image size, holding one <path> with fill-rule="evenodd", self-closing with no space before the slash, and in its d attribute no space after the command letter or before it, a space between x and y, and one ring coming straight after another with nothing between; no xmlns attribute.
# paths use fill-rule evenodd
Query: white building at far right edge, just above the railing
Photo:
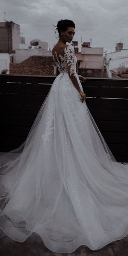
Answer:
<svg viewBox="0 0 128 256"><path fill-rule="evenodd" d="M115 52L105 54L105 65L109 78L112 78L114 73L118 74L121 68L122 70L128 68L128 49L123 49L122 44L122 48L118 50L117 45L118 44L116 44Z"/></svg>

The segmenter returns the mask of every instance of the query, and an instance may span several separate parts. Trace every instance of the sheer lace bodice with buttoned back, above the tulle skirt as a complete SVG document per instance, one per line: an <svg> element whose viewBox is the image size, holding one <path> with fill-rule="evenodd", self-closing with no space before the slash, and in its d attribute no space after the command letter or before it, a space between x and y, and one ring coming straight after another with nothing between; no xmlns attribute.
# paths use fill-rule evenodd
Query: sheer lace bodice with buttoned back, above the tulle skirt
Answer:
<svg viewBox="0 0 128 256"><path fill-rule="evenodd" d="M69 67L69 75L76 76L77 58L74 54L74 47L71 44L63 50L62 54L55 52L53 60L60 73L68 73Z"/></svg>

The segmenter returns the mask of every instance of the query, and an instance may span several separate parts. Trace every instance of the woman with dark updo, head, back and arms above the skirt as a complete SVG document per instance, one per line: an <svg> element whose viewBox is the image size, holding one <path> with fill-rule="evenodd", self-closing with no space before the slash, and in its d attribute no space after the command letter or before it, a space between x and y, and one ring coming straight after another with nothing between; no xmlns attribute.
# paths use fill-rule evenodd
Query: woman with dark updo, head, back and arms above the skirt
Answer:
<svg viewBox="0 0 128 256"><path fill-rule="evenodd" d="M69 26L69 27L67 27ZM63 29L63 30L62 30ZM54 46L52 53L53 53L53 59L56 63L56 66L58 67L60 73L68 73L69 77L71 78L73 85L78 90L78 92L81 95L81 101L82 103L84 100L86 100L86 94L83 92L83 89L81 87L81 84L79 83L79 80L76 78L76 70L75 67L72 69L75 56L74 56L74 48L72 46L68 46L66 42L71 43L74 34L75 34L75 24L73 21L65 20L65 21L59 21L57 23L57 30L59 33L59 41ZM62 65L62 56L65 55L65 51L68 51L68 65L67 67L63 67ZM72 55L72 56L71 56ZM66 59L67 61L67 59ZM66 71L65 71L66 68ZM82 81L85 81L84 76L79 75L79 78L82 79Z"/></svg>

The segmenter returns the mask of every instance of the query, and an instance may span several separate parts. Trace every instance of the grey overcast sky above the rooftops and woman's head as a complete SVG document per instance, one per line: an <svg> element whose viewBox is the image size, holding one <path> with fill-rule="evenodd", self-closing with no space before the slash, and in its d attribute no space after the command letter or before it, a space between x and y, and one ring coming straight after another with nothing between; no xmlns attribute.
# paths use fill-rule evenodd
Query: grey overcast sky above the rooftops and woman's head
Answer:
<svg viewBox="0 0 128 256"><path fill-rule="evenodd" d="M0 21L21 26L25 42L40 39L52 48L57 42L53 24L61 19L75 22L74 41L90 41L107 52L118 42L128 48L127 0L0 0Z"/></svg>

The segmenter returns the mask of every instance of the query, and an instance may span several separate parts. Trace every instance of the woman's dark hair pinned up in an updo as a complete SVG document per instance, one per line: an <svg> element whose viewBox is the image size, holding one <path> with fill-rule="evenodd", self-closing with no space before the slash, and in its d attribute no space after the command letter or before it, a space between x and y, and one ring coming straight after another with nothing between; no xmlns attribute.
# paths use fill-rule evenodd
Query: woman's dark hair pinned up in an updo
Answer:
<svg viewBox="0 0 128 256"><path fill-rule="evenodd" d="M57 22L57 25L55 26L56 29L59 33L60 36L60 31L66 31L68 27L73 27L75 28L75 23L71 20L60 20L59 22ZM56 31L55 31L56 32Z"/></svg>

